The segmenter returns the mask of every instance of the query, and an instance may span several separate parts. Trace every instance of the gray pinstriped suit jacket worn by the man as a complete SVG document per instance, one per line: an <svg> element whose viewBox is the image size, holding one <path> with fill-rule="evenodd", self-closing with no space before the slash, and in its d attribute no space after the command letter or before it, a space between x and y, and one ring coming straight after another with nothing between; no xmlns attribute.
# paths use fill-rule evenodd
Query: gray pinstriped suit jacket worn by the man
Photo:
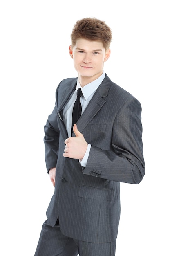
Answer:
<svg viewBox="0 0 190 256"><path fill-rule="evenodd" d="M60 82L55 108L45 125L47 170L56 166L47 218L52 226L59 218L66 236L105 243L115 240L118 233L120 182L138 184L145 174L141 104L105 75L77 122L92 145L84 168L78 159L63 157L68 135L62 110L76 83L77 78Z"/></svg>

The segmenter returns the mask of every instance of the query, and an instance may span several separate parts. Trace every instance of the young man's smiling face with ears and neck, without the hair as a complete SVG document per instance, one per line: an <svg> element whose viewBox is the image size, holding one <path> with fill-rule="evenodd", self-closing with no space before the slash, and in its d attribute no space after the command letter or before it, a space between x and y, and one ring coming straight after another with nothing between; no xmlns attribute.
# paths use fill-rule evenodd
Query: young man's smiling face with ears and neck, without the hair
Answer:
<svg viewBox="0 0 190 256"><path fill-rule="evenodd" d="M110 56L110 49L105 51L100 41L80 38L74 47L70 45L69 54L74 60L80 85L84 86L101 76L104 63Z"/></svg>

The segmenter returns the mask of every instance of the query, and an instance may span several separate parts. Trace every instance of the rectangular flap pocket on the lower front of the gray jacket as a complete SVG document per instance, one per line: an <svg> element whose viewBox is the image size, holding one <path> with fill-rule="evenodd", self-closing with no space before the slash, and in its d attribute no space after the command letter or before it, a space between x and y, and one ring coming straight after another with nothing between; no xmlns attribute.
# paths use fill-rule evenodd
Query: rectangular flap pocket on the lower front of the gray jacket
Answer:
<svg viewBox="0 0 190 256"><path fill-rule="evenodd" d="M113 197L113 190L80 185L78 195L82 198L110 201Z"/></svg>

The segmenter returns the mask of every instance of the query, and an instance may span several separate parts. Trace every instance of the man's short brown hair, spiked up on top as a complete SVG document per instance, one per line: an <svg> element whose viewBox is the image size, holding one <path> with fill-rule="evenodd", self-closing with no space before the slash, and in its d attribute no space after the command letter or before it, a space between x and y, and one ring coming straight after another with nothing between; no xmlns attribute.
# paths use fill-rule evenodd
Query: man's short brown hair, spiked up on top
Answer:
<svg viewBox="0 0 190 256"><path fill-rule="evenodd" d="M76 40L84 38L89 41L101 41L107 50L112 41L112 31L105 21L96 18L83 18L78 20L71 33L71 44L76 45Z"/></svg>

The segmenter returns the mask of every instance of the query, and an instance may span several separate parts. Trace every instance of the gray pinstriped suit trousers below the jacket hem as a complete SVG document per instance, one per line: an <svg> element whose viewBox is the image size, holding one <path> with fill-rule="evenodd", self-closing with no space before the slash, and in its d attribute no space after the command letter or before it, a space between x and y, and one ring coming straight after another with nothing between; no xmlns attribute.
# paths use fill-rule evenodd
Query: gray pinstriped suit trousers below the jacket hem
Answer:
<svg viewBox="0 0 190 256"><path fill-rule="evenodd" d="M64 236L57 222L48 220L42 226L34 256L115 256L116 240L110 243L89 243Z"/></svg>

